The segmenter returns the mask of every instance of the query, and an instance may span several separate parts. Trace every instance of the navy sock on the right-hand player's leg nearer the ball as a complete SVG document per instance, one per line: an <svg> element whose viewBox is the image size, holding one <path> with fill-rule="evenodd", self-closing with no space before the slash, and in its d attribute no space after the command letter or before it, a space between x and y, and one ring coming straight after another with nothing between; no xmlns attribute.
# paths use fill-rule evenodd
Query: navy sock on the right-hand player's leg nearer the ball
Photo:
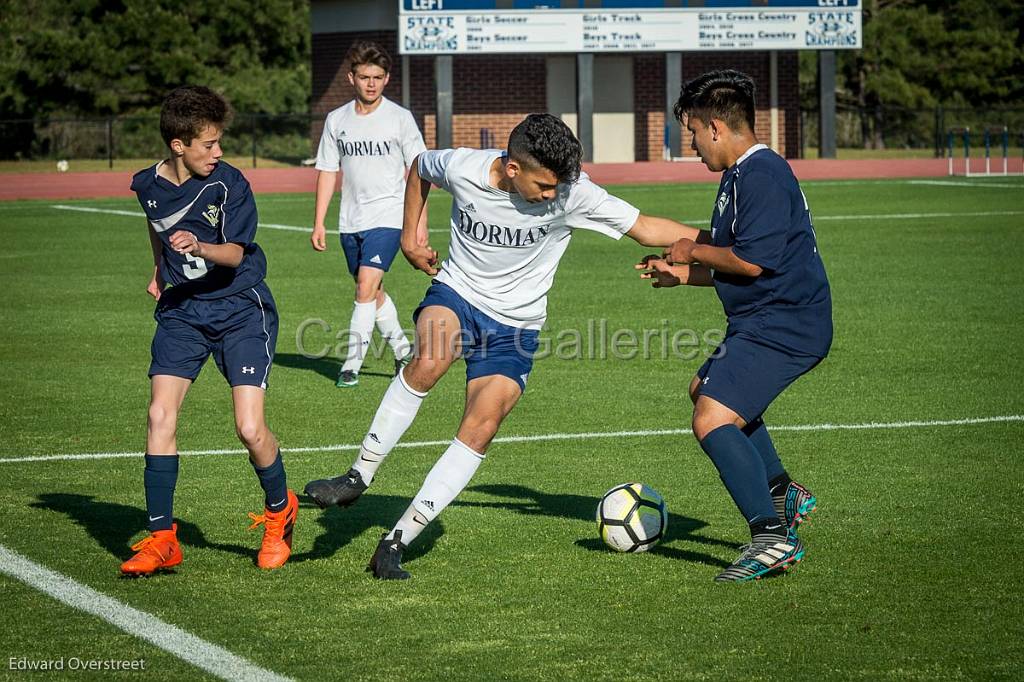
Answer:
<svg viewBox="0 0 1024 682"><path fill-rule="evenodd" d="M715 464L748 523L776 518L764 460L739 427L732 424L718 427L705 436L700 447Z"/></svg>

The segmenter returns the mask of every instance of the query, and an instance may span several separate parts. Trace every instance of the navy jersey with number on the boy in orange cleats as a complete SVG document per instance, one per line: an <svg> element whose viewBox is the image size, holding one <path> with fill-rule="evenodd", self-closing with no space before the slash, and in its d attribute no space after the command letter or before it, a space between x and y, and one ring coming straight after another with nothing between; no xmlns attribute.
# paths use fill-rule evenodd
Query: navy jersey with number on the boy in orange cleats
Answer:
<svg viewBox="0 0 1024 682"><path fill-rule="evenodd" d="M191 177L176 185L157 173L159 167L158 163L136 173L131 188L163 244L164 281L180 294L200 299L230 296L262 282L266 256L253 241L256 201L242 173L220 162L205 178ZM170 245L171 235L178 230L193 232L207 244L238 244L244 249L242 262L226 267L180 254Z"/></svg>

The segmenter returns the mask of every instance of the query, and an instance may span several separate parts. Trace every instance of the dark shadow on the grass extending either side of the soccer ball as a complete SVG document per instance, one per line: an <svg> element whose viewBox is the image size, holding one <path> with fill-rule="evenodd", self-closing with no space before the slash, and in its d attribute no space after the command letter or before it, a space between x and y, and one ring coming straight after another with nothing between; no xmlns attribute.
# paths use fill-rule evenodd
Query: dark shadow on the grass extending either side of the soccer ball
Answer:
<svg viewBox="0 0 1024 682"><path fill-rule="evenodd" d="M466 507L484 507L490 509L507 509L519 514L560 516L594 523L594 513L600 498L583 495L549 495L541 493L523 485L474 485L468 488L474 493L482 493L496 498L509 498L509 502L465 502L457 501L456 505ZM696 530L707 527L708 523L699 519L690 518L681 514L669 513L669 526L662 542L650 550L651 554L665 556L682 561L694 563L705 563L711 566L728 566L728 561L723 561L710 554L701 552L691 552L677 547L668 547L669 543L675 541L697 543L700 545L711 545L715 547L727 547L737 550L739 545L735 543L707 538L696 535ZM595 531L596 532L596 531ZM578 547L595 552L614 552L605 545L599 538L582 538L575 541Z"/></svg>

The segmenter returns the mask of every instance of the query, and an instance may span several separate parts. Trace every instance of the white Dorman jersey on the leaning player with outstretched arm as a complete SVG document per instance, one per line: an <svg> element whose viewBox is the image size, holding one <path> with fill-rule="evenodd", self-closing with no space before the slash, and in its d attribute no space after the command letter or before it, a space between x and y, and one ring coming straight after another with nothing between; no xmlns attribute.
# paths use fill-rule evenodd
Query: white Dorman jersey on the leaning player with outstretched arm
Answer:
<svg viewBox="0 0 1024 682"><path fill-rule="evenodd" d="M552 201L530 204L490 186L490 164L503 155L459 148L420 156L420 177L452 195L452 241L436 280L500 323L539 329L572 229L617 240L640 211L586 173L572 184L558 185Z"/></svg>

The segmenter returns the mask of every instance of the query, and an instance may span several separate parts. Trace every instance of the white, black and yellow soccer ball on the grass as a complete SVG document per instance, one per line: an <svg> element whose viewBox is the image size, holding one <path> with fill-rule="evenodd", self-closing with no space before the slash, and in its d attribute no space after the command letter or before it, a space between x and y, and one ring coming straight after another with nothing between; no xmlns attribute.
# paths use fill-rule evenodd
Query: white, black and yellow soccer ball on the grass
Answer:
<svg viewBox="0 0 1024 682"><path fill-rule="evenodd" d="M616 552L646 552L669 525L665 500L643 483L623 483L597 505L597 532Z"/></svg>

